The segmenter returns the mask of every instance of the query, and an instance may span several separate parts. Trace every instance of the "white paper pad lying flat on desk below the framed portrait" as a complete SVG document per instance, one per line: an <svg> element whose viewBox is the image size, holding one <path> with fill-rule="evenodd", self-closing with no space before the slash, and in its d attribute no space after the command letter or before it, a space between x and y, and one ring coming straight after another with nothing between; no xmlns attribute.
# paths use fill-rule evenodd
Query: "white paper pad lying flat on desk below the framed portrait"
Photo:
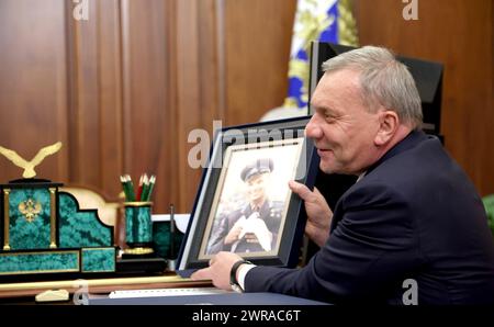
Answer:
<svg viewBox="0 0 494 327"><path fill-rule="evenodd" d="M113 291L110 298L133 298L133 297L161 297L161 296L190 296L190 295L214 295L226 294L232 291L224 291L216 287L182 287L182 289L148 289L148 290L123 290Z"/></svg>

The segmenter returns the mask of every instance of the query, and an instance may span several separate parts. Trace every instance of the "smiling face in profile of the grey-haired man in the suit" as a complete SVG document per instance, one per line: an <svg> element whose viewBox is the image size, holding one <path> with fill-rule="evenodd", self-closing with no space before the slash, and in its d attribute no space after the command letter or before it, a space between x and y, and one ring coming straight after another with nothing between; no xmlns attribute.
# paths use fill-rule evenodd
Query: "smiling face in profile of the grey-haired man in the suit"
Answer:
<svg viewBox="0 0 494 327"><path fill-rule="evenodd" d="M378 159L374 137L380 114L367 110L358 72L326 72L311 104L315 113L305 133L314 139L321 170L359 174Z"/></svg>

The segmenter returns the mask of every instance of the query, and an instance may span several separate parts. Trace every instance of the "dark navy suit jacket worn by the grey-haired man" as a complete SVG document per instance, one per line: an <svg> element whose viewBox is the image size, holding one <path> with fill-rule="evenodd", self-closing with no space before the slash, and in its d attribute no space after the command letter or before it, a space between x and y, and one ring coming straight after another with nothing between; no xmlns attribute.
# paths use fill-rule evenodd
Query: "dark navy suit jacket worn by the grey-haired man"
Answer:
<svg viewBox="0 0 494 327"><path fill-rule="evenodd" d="M256 267L247 292L330 303L494 303L494 241L474 187L440 142L412 132L338 201L330 235L302 269ZM406 297L406 296L405 296Z"/></svg>

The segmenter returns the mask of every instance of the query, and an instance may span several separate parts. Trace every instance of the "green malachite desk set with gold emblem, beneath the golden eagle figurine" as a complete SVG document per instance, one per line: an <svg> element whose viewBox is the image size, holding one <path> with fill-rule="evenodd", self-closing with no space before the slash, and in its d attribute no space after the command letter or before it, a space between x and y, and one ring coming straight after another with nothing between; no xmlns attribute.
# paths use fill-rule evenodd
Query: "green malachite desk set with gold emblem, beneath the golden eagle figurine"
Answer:
<svg viewBox="0 0 494 327"><path fill-rule="evenodd" d="M0 277L115 271L113 227L59 187L40 179L0 185Z"/></svg>

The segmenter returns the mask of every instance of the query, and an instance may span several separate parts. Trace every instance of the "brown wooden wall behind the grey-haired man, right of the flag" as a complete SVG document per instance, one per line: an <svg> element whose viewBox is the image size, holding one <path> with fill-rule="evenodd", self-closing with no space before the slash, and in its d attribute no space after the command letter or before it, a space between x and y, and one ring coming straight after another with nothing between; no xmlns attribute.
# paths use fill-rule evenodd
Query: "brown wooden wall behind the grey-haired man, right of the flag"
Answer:
<svg viewBox="0 0 494 327"><path fill-rule="evenodd" d="M482 194L494 193L493 2L419 0L417 21L403 19L404 7L394 0L359 0L360 43L445 64L446 148Z"/></svg>

